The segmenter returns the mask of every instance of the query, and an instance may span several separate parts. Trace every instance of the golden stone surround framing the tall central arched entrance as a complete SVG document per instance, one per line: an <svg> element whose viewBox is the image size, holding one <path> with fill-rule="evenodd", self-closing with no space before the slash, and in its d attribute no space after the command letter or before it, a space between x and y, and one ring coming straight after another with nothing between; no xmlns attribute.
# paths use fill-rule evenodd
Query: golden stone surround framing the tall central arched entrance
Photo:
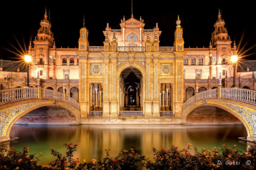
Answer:
<svg viewBox="0 0 256 170"><path fill-rule="evenodd" d="M141 65L140 63L138 62L124 62L122 63L122 65L120 65L117 70L116 70L116 77L118 77L118 79L116 79L116 91L117 91L117 100L118 100L118 111L120 111L120 89L122 88L122 86L124 86L123 84L121 85L120 82L120 77L121 77L121 74L122 72L127 69L127 68L136 68L142 75L141 77L141 89L142 89L142 104L140 105L141 107L141 111L143 111L143 114L145 114L145 96L146 96L146 69L143 65ZM122 90L122 89L121 89Z"/></svg>

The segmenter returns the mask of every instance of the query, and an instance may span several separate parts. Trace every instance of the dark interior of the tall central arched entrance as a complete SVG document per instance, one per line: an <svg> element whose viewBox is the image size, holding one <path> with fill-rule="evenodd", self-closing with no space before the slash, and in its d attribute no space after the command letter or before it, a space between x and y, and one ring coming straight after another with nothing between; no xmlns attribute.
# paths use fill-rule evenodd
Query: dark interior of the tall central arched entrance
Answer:
<svg viewBox="0 0 256 170"><path fill-rule="evenodd" d="M142 74L126 68L120 75L120 111L141 111Z"/></svg>

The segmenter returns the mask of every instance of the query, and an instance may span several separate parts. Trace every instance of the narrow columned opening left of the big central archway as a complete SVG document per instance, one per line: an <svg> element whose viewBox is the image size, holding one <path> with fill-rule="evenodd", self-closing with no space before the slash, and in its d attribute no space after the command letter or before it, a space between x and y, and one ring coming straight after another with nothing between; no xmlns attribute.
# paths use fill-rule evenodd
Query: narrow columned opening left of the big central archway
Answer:
<svg viewBox="0 0 256 170"><path fill-rule="evenodd" d="M102 86L92 83L90 86L90 111L102 111Z"/></svg>

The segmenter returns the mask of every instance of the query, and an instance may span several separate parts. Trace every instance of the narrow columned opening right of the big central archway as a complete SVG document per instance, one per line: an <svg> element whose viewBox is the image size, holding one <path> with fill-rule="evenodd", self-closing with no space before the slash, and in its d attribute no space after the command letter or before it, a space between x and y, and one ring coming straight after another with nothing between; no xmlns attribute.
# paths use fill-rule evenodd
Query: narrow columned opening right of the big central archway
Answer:
<svg viewBox="0 0 256 170"><path fill-rule="evenodd" d="M161 84L160 88L160 111L170 111L171 103L171 88L170 84Z"/></svg>

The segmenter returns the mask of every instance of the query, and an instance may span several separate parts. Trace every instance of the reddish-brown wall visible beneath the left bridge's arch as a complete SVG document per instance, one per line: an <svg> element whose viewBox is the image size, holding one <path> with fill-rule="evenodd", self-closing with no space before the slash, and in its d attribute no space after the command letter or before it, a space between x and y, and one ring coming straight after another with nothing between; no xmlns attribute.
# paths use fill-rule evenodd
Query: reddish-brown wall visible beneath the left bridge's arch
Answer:
<svg viewBox="0 0 256 170"><path fill-rule="evenodd" d="M47 105L34 109L19 120L15 124L28 125L69 125L77 123L73 113L65 108L57 105Z"/></svg>

